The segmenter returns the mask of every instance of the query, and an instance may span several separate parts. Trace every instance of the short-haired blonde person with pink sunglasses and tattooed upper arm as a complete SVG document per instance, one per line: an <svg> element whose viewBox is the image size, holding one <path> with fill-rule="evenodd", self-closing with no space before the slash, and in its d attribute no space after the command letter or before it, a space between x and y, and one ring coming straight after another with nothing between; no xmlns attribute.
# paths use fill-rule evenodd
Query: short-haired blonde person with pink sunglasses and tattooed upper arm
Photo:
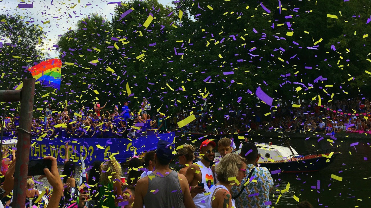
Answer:
<svg viewBox="0 0 371 208"><path fill-rule="evenodd" d="M237 154L226 154L215 168L217 182L211 189L207 205L211 208L234 208L231 188L246 177L246 159Z"/></svg>

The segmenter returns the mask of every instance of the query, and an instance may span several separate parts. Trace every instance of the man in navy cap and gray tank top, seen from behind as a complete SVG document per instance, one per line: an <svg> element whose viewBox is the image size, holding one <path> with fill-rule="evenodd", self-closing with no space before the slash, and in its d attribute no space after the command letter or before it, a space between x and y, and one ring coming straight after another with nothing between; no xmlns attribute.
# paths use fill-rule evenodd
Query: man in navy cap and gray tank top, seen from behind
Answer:
<svg viewBox="0 0 371 208"><path fill-rule="evenodd" d="M173 151L170 142L158 142L155 172L138 180L134 208L142 208L143 205L146 208L195 207L185 176L169 168L169 163L174 158ZM155 190L155 193L152 190Z"/></svg>

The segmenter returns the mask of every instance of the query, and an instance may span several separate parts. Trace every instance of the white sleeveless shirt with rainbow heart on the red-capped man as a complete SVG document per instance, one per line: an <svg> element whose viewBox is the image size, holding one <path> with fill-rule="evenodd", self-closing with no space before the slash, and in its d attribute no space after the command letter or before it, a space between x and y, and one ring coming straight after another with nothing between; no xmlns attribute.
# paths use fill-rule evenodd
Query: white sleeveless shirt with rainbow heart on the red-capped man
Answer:
<svg viewBox="0 0 371 208"><path fill-rule="evenodd" d="M201 177L203 183L205 185L205 192L201 194L197 194L193 198L193 202L196 205L197 208L209 208L209 204L207 204L207 198L209 197L208 193L210 192L210 188L214 186L214 176L213 176L213 171L209 168L206 167L201 161L196 162L195 164L200 167L201 171ZM207 182L209 181L209 184ZM206 194L206 195L205 195Z"/></svg>

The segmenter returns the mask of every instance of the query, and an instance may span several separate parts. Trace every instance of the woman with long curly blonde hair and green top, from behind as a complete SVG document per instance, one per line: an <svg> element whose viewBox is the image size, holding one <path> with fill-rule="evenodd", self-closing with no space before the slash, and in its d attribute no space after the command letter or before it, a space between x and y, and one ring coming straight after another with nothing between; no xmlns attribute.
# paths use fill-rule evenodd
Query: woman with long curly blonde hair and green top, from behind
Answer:
<svg viewBox="0 0 371 208"><path fill-rule="evenodd" d="M101 165L99 184L99 207L118 207L122 201L121 191L121 165L116 160L109 160Z"/></svg>

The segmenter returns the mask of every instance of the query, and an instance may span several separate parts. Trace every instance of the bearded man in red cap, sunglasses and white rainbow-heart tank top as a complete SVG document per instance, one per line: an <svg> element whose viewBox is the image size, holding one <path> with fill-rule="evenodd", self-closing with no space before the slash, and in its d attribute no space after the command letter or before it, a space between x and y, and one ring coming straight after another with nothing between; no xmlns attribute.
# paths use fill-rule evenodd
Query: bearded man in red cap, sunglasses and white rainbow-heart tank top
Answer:
<svg viewBox="0 0 371 208"><path fill-rule="evenodd" d="M215 142L210 140L205 140L200 146L200 156L201 161L195 162L187 169L185 172L185 177L190 185L191 197L197 208L207 208L209 205L206 203L209 197L209 190L215 184L213 171L211 171L210 163L214 161L215 158ZM209 186L207 182L210 180ZM198 185L201 183L200 185Z"/></svg>

